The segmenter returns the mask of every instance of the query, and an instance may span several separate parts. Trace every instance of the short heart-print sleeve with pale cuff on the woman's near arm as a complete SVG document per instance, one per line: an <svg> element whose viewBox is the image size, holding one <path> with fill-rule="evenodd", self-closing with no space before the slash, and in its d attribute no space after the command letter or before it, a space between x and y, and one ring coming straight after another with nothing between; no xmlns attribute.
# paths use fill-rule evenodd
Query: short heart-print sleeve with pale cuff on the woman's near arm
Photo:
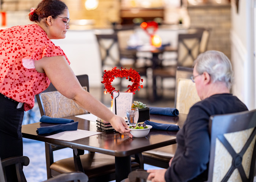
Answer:
<svg viewBox="0 0 256 182"><path fill-rule="evenodd" d="M31 52L30 56L26 56L22 58L22 64L24 67L31 69L35 68L34 61L42 59L44 56L52 57L52 56L65 56L67 59L68 64L70 64L67 56L63 52L63 50L59 46L54 45L46 45L40 48L37 48L37 50Z"/></svg>

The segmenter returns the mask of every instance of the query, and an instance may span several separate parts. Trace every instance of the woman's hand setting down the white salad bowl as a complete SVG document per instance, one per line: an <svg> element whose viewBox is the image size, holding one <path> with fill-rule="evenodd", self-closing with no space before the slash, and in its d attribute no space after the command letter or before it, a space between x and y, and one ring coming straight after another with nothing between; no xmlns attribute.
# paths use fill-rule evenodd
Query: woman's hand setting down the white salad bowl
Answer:
<svg viewBox="0 0 256 182"><path fill-rule="evenodd" d="M113 128L115 128L116 131L132 138L132 134L130 133L131 130L126 129L129 128L129 126L125 123L125 120L122 117L114 115L110 119L110 124L113 126Z"/></svg>

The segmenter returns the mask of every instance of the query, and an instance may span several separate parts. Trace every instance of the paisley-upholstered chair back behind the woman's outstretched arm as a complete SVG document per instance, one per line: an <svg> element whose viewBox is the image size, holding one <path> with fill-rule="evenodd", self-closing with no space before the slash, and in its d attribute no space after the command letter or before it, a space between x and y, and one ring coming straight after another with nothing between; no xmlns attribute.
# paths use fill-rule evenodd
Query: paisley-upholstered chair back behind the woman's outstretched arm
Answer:
<svg viewBox="0 0 256 182"><path fill-rule="evenodd" d="M88 75L76 76L84 90L89 92ZM41 94L36 95L40 114L52 118L63 118L71 115L87 114L88 112L72 99L62 95L51 83Z"/></svg>

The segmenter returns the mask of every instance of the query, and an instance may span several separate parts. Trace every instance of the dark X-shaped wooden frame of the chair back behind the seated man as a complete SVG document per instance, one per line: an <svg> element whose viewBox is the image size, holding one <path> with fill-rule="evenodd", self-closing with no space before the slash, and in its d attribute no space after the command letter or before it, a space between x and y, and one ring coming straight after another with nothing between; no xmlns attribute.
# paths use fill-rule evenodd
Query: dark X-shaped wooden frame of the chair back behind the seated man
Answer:
<svg viewBox="0 0 256 182"><path fill-rule="evenodd" d="M254 128L250 137L246 141L242 150L239 153L236 153L236 151L234 151L233 147L224 137L224 134L243 131L250 128ZM256 143L254 143L253 147L249 178L246 177L245 171L242 167L242 158L256 135L256 110L211 116L209 121L209 132L211 134L211 151L207 182L211 182L214 176L214 158L217 138L232 157L231 167L226 173L225 177L222 178L222 182L228 181L235 169L238 169L243 182L253 182L253 178L255 176Z"/></svg>

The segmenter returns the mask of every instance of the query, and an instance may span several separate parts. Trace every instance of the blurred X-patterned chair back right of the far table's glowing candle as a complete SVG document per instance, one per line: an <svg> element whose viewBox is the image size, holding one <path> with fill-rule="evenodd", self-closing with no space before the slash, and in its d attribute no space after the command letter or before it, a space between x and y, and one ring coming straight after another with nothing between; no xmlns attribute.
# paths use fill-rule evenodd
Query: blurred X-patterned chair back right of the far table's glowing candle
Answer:
<svg viewBox="0 0 256 182"><path fill-rule="evenodd" d="M203 31L178 35L178 61L177 66L192 67L199 55L199 48Z"/></svg>

